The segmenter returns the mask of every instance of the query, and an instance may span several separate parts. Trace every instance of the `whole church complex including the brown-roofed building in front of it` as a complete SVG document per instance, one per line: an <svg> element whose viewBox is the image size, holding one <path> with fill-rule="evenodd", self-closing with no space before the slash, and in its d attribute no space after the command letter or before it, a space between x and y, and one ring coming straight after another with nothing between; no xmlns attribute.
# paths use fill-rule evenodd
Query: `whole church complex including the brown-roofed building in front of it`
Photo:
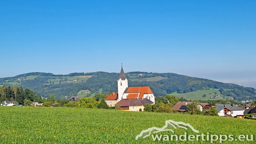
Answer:
<svg viewBox="0 0 256 144"><path fill-rule="evenodd" d="M128 87L128 80L124 74L123 66L117 79L118 94L113 92L106 99L109 107L120 104L121 110L139 111L144 109L146 104L155 104L154 93L148 86Z"/></svg>

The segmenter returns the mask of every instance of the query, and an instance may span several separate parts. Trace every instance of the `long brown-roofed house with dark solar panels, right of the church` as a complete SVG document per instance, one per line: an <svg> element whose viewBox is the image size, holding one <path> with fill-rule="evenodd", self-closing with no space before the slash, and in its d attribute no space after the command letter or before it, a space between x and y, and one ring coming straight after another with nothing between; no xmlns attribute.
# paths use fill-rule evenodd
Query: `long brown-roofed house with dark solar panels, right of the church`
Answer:
<svg viewBox="0 0 256 144"><path fill-rule="evenodd" d="M190 101L179 101L177 102L173 107L172 110L176 110L176 111L186 111L187 110L187 105L190 104L192 102ZM199 103L199 102L195 102L197 104L197 108L200 111L203 110L207 110L210 109L211 106L208 103Z"/></svg>

